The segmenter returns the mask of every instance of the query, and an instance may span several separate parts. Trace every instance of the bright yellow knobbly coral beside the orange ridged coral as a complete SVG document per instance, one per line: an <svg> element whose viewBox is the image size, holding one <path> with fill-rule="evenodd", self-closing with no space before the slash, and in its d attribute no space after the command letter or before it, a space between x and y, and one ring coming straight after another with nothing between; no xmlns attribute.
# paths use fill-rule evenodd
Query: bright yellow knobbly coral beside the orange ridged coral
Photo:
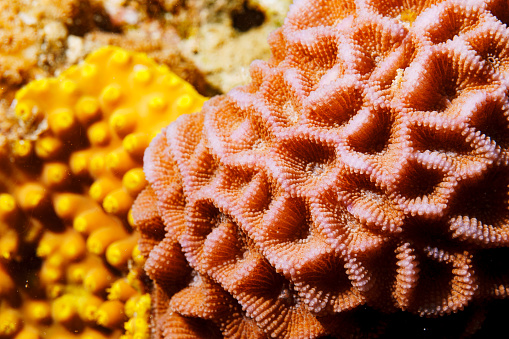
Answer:
<svg viewBox="0 0 509 339"><path fill-rule="evenodd" d="M105 47L18 91L0 149L0 338L148 338L130 208L155 133L204 98L141 53ZM126 322L126 320L128 320Z"/></svg>

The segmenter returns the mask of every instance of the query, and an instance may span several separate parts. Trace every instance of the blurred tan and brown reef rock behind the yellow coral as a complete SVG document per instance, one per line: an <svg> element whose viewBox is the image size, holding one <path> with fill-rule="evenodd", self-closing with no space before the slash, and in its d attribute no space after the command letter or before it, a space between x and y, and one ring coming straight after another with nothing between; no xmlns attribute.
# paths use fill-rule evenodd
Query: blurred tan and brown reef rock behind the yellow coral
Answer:
<svg viewBox="0 0 509 339"><path fill-rule="evenodd" d="M252 60L268 58L266 35L280 26L288 5L289 0L2 1L0 117L21 86L58 75L105 45L147 53L202 94L229 90L247 79L241 70ZM241 27L245 32L237 29L237 17L251 23ZM239 49L239 42L249 48Z"/></svg>

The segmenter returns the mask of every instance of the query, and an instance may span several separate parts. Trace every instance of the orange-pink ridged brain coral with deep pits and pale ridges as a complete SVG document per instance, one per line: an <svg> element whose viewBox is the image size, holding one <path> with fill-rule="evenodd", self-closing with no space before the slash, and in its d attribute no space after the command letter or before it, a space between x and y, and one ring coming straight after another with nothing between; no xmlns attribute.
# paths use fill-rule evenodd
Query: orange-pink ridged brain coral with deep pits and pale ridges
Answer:
<svg viewBox="0 0 509 339"><path fill-rule="evenodd" d="M507 13L295 1L252 83L145 153L155 337L368 337L363 309L506 298Z"/></svg>

